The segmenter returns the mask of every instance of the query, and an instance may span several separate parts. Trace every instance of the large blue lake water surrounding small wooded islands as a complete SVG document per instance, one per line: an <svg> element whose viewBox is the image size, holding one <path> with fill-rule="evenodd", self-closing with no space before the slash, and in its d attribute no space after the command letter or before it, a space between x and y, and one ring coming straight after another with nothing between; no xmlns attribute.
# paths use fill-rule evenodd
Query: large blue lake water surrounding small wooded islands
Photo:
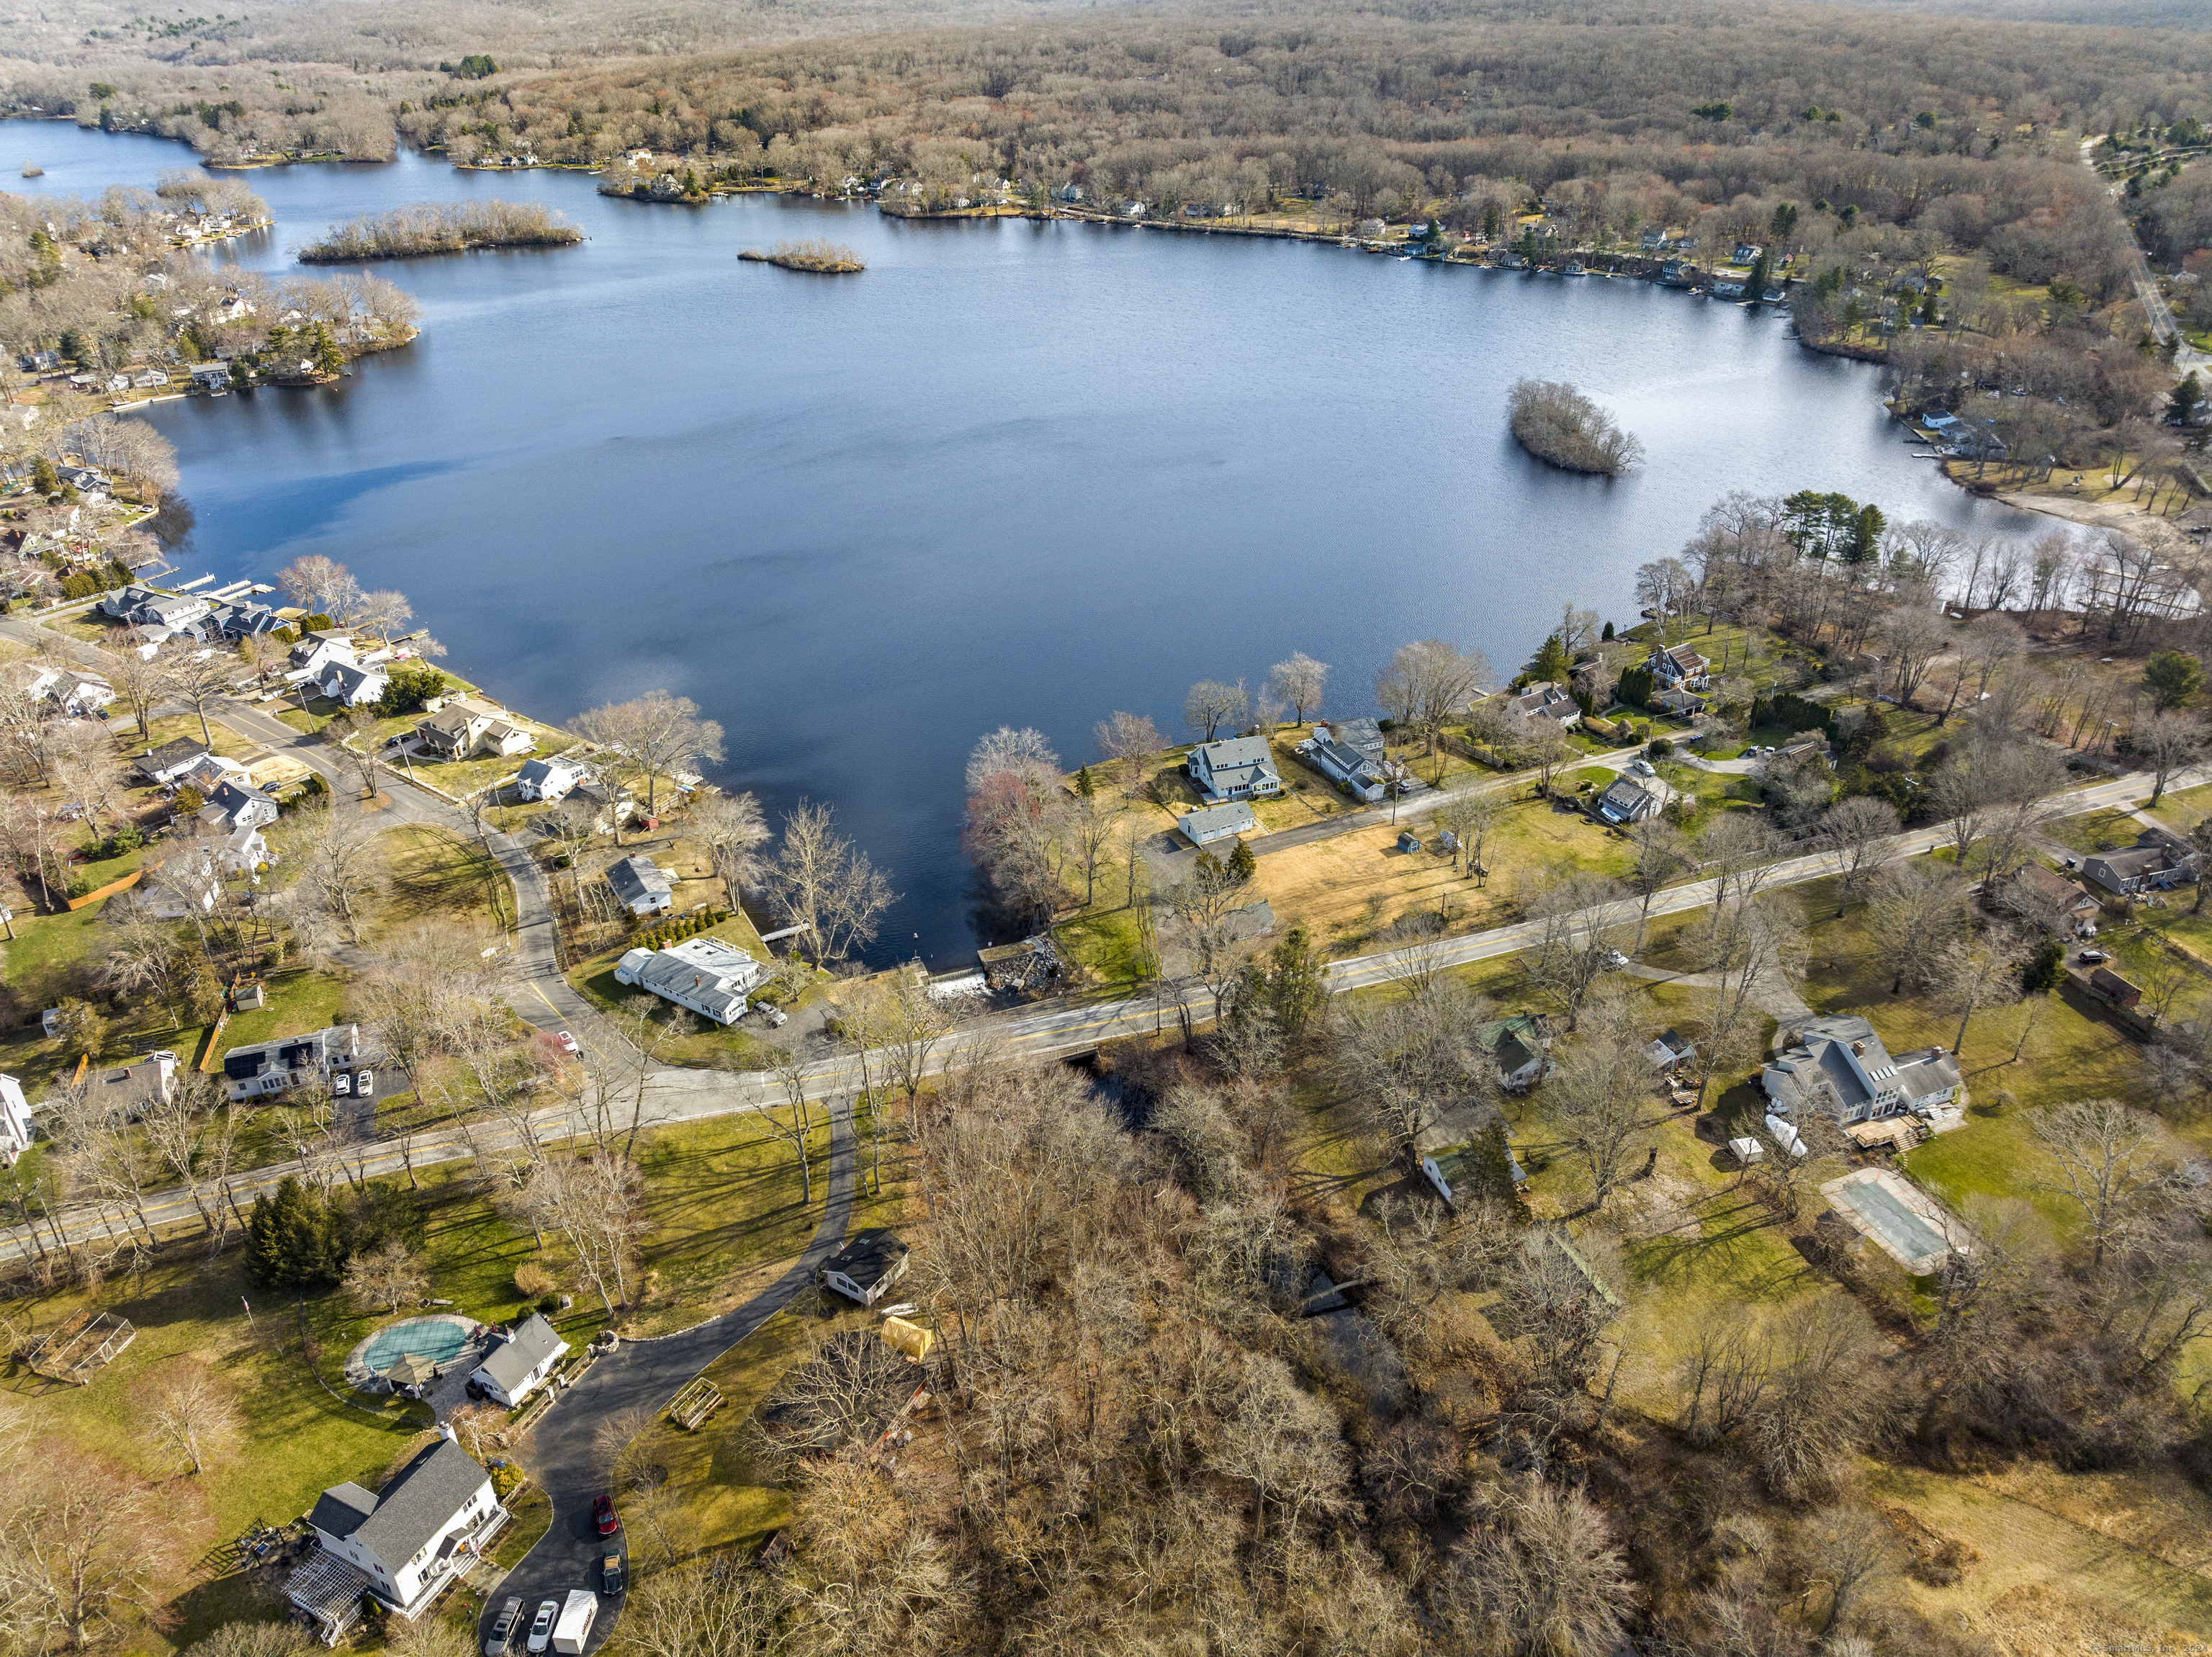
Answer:
<svg viewBox="0 0 2212 1657"><path fill-rule="evenodd" d="M0 131L7 190L190 166L159 139ZM22 159L46 175L18 181ZM334 219L427 199L546 201L591 241L380 265L422 301L409 350L323 389L150 409L199 511L186 575L327 553L540 719L692 697L728 732L714 781L772 816L832 801L891 872L876 960L991 938L960 774L1000 723L1073 765L1115 708L1175 734L1192 679L1256 686L1292 650L1334 664L1343 715L1371 712L1416 637L1511 675L1566 600L1632 622L1635 566L1730 489L2031 527L1907 458L1876 369L1648 283L776 197L644 206L409 155L246 177L276 228L212 257L268 272L303 270L288 248ZM799 237L852 243L867 274L737 259ZM1528 460L1504 425L1526 374L1610 405L1650 462Z"/></svg>

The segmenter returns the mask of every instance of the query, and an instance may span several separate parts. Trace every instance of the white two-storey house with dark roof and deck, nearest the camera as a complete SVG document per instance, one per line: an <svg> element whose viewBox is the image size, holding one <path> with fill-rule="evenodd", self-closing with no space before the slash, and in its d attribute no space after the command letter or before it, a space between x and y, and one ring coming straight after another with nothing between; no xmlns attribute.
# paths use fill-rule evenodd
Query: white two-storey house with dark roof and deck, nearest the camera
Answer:
<svg viewBox="0 0 2212 1657"><path fill-rule="evenodd" d="M507 1524L507 1509L491 1491L491 1473L451 1438L438 1438L380 1491L352 1480L332 1484L314 1498L307 1524L323 1546L285 1584L285 1597L334 1644L361 1595L409 1622L420 1617L482 1557Z"/></svg>

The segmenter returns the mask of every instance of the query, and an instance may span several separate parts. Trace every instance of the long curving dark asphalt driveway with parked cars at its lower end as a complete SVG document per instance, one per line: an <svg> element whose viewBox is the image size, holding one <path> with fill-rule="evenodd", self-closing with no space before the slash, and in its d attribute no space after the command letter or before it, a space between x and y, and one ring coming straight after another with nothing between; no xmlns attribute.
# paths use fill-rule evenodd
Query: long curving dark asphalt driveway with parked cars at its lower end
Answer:
<svg viewBox="0 0 2212 1657"><path fill-rule="evenodd" d="M830 1259L845 1241L845 1226L852 1219L856 1164L852 1106L838 1100L830 1106L830 1188L823 1221L814 1228L807 1252L799 1257L792 1270L719 1319L708 1319L681 1334L664 1334L655 1341L624 1341L622 1349L586 1369L584 1378L568 1387L562 1400L538 1422L538 1431L533 1434L538 1453L531 1473L538 1487L553 1500L553 1524L538 1540L538 1546L522 1555L522 1562L507 1573L507 1582L487 1595L484 1611L478 1617L478 1642L491 1633L491 1624L507 1595L522 1597L526 1628L540 1599L564 1599L571 1588L591 1588L597 1593L599 1560L608 1553L622 1553L624 1582L628 1582L628 1524L615 1535L602 1538L591 1518L591 1498L608 1489L599 1458L593 1453L593 1431L602 1420L633 1405L657 1409L675 1398L684 1383L768 1323L794 1294L803 1294L814 1283L814 1268ZM615 1493L615 1511L617 1515L622 1513L619 1491ZM586 1650L597 1650L619 1617L622 1602L602 1595L599 1619L591 1628ZM518 1653L520 1646L518 1630Z"/></svg>

